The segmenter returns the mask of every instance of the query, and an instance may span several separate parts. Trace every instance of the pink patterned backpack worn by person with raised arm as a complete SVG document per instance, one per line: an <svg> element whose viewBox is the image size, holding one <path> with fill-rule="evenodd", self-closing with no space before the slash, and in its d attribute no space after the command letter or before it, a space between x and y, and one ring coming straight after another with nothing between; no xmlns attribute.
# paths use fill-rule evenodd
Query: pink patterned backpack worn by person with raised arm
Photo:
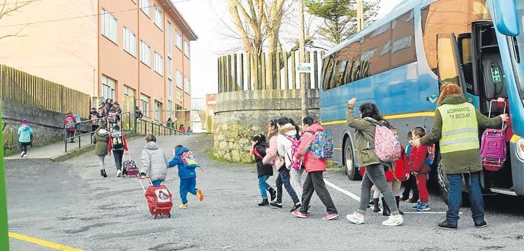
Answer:
<svg viewBox="0 0 524 251"><path fill-rule="evenodd" d="M386 126L381 126L377 123L374 132L374 153L381 161L394 162L402 155L402 148L400 142L395 138L395 135Z"/></svg>

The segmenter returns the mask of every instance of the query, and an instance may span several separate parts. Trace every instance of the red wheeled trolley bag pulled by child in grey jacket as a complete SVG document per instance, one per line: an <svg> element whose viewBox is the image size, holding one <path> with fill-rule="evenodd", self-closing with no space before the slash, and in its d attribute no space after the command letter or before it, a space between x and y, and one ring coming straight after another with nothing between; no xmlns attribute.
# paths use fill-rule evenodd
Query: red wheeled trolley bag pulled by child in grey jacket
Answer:
<svg viewBox="0 0 524 251"><path fill-rule="evenodd" d="M142 180L147 179L150 186L145 189ZM160 215L171 218L171 208L173 208L173 195L169 192L168 188L165 185L154 186L151 183L150 177L146 176L145 178L138 177L138 182L142 186L142 189L145 192L145 199L147 199L147 206L150 208L150 213L153 215L153 218L156 219Z"/></svg>

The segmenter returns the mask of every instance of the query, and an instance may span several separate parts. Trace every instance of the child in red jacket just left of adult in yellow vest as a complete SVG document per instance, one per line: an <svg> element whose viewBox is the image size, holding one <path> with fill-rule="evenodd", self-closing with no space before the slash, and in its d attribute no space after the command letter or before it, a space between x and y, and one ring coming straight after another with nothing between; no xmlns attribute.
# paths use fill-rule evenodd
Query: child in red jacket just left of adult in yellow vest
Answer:
<svg viewBox="0 0 524 251"><path fill-rule="evenodd" d="M424 137L425 130L421 127L413 128L413 139ZM413 146L409 153L409 166L412 167L412 174L416 177L416 188L419 189L419 203L412 207L416 211L430 211L428 188L426 187L426 174L429 167L425 163L428 156L428 146Z"/></svg>

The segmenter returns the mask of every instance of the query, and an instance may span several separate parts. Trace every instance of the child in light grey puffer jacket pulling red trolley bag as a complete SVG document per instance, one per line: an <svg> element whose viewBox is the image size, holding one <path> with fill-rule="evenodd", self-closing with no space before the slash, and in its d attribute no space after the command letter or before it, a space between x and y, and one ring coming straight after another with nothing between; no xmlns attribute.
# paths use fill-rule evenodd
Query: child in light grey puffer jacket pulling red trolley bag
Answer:
<svg viewBox="0 0 524 251"><path fill-rule="evenodd" d="M142 169L140 176L150 176L153 185L158 186L166 180L168 174L168 158L157 144L154 135L145 136L145 147L142 151Z"/></svg>

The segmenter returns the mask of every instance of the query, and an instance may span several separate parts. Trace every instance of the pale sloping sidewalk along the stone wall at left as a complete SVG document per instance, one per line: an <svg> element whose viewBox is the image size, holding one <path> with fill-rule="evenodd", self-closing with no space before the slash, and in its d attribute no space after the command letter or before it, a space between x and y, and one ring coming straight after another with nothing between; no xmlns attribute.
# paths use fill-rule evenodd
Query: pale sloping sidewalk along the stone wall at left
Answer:
<svg viewBox="0 0 524 251"><path fill-rule="evenodd" d="M38 139L36 139L38 140ZM91 144L91 137L90 135L82 136L80 139L80 146L87 146ZM72 151L74 149L78 149L78 138L75 139L75 143L67 143L67 151ZM27 158L31 159L51 159L58 155L62 155L66 153L65 152L65 146L64 142L58 142L55 144L50 144L47 146L42 146L38 148L31 148L31 146L27 149ZM4 158L5 160L16 160L20 159L20 153L15 153L14 155L6 156Z"/></svg>

